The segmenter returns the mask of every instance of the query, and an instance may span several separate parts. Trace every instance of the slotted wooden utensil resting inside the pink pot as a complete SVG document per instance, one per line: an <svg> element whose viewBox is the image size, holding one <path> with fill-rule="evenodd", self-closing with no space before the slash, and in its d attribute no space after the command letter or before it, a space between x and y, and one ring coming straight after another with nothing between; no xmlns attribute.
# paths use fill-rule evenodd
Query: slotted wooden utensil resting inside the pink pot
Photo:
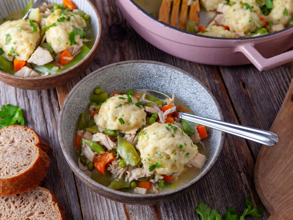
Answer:
<svg viewBox="0 0 293 220"><path fill-rule="evenodd" d="M198 26L200 22L199 0L192 0L191 5L188 6L189 1L191 0L173 0L173 6L171 11L172 0L163 0L159 10L159 19L165 23L168 23L171 11L170 25L173 27L177 27L178 13L179 9L181 8L178 28L183 29L185 27L185 21L188 15L188 8L190 8L188 20L194 21L195 24Z"/></svg>

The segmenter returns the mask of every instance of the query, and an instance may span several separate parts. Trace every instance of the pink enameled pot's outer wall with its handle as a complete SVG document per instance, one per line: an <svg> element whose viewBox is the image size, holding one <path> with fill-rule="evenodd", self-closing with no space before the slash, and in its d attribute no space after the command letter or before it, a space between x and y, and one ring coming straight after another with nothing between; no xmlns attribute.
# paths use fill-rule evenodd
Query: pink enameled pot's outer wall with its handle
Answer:
<svg viewBox="0 0 293 220"><path fill-rule="evenodd" d="M174 28L149 15L132 0L117 0L132 28L155 47L185 60L209 65L253 63L258 70L293 61L293 26L258 37L215 38Z"/></svg>

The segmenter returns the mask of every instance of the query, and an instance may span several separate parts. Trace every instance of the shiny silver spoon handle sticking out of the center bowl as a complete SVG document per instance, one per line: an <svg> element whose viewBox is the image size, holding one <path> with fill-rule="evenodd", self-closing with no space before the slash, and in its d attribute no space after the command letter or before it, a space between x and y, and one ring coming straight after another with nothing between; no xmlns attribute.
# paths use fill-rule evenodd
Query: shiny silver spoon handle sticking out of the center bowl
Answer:
<svg viewBox="0 0 293 220"><path fill-rule="evenodd" d="M279 141L278 136L275 133L272 133L270 131L264 131L257 128L251 128L234 123L208 119L182 112L178 112L178 118L185 119L187 121L192 121L210 128L217 129L219 131L224 131L226 133L230 133L268 146L274 146Z"/></svg>

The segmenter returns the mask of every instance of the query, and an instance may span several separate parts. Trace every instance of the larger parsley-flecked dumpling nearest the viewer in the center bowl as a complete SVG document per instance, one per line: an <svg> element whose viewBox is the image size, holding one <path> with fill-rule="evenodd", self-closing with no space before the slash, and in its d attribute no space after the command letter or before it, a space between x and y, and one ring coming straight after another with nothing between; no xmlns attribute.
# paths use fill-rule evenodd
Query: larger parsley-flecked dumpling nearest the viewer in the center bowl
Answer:
<svg viewBox="0 0 293 220"><path fill-rule="evenodd" d="M181 128L167 123L153 123L144 128L136 145L146 172L171 175L180 172L198 152L197 146ZM151 166L159 163L154 170Z"/></svg>

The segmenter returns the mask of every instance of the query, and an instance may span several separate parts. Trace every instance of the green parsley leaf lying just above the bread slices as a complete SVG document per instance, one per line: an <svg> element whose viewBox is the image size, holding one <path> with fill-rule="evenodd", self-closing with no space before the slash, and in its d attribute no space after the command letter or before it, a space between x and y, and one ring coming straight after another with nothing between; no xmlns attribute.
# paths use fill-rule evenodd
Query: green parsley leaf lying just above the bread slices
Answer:
<svg viewBox="0 0 293 220"><path fill-rule="evenodd" d="M2 106L0 110L0 129L14 124L24 126L24 118L21 108L7 104Z"/></svg>

